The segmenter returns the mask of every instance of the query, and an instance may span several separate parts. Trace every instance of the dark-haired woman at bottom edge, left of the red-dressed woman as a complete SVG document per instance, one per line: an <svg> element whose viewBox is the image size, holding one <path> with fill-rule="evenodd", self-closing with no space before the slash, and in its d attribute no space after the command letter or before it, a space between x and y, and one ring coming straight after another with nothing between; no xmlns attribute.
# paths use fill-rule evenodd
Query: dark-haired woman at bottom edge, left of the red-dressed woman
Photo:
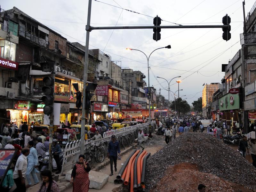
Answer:
<svg viewBox="0 0 256 192"><path fill-rule="evenodd" d="M38 192L60 192L59 186L52 178L52 172L48 169L41 171L43 183ZM82 192L82 191L81 191Z"/></svg>

